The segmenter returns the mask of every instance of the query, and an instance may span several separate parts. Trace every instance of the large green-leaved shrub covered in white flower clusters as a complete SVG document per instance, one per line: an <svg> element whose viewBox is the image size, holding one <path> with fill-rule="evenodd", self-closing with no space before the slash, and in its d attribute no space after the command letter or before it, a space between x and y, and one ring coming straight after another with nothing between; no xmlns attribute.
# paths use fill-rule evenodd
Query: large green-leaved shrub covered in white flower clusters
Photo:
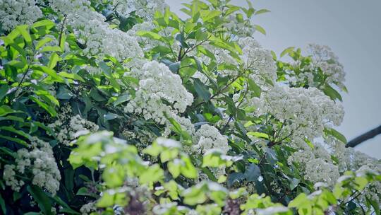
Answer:
<svg viewBox="0 0 381 215"><path fill-rule="evenodd" d="M343 66L260 46L267 10L0 5L1 214L380 214L380 161L334 129Z"/></svg>

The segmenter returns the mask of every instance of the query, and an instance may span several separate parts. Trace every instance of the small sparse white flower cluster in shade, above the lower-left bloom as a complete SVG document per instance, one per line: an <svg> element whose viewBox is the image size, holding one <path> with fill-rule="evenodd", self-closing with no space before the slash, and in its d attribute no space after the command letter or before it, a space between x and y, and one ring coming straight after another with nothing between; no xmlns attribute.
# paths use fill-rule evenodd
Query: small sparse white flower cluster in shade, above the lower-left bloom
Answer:
<svg viewBox="0 0 381 215"><path fill-rule="evenodd" d="M78 136L88 134L90 132L97 132L98 125L75 115L61 115L59 120L56 120L48 127L56 132L57 140L59 143L69 146L71 142L77 139Z"/></svg>

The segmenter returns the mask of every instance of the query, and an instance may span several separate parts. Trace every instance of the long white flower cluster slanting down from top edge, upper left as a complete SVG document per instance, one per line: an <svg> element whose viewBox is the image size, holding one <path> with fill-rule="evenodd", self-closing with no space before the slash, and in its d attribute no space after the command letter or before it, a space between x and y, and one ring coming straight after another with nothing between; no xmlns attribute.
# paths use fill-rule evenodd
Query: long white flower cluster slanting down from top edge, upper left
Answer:
<svg viewBox="0 0 381 215"><path fill-rule="evenodd" d="M90 8L90 1L49 1L50 6L75 30L80 42L85 44L85 54L115 57L119 61L131 57L143 57L135 37L119 29L110 28L102 14Z"/></svg>

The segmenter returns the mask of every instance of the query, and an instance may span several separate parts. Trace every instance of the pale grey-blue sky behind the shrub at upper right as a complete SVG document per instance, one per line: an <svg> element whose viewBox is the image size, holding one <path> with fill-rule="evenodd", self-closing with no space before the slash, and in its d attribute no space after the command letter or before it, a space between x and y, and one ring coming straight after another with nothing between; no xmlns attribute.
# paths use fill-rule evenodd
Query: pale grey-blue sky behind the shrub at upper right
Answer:
<svg viewBox="0 0 381 215"><path fill-rule="evenodd" d="M166 0L172 11L182 13L181 3L190 0ZM246 1L234 4L246 6ZM380 0L256 0L256 9L271 13L255 16L267 35L255 38L277 54L290 46L308 43L329 45L339 56L346 71L344 122L338 128L347 139L381 124L381 1ZM381 158L381 135L356 149Z"/></svg>

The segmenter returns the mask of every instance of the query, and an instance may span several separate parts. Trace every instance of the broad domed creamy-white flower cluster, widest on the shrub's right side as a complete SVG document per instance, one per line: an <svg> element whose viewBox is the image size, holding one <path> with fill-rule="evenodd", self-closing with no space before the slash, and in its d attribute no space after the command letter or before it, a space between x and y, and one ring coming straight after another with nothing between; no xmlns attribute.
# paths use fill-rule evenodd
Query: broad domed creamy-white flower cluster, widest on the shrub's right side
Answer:
<svg viewBox="0 0 381 215"><path fill-rule="evenodd" d="M282 134L313 139L321 136L325 126L341 124L344 110L317 88L274 86L262 93L258 106L284 122Z"/></svg>

